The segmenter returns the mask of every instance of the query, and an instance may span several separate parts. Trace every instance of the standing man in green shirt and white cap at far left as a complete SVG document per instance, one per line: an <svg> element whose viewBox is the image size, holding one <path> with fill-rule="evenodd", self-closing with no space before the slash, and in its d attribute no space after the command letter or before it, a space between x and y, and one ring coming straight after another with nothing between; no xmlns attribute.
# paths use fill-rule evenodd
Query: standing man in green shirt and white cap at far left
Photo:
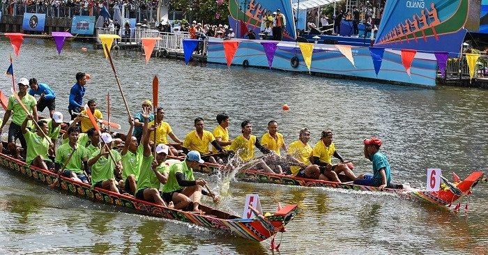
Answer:
<svg viewBox="0 0 488 255"><path fill-rule="evenodd" d="M27 93L27 88L29 88L29 80L26 78L21 78L17 85L19 86L19 91L17 92L17 95L19 96L20 100L22 100L22 103L25 105L27 111L29 111L29 114L33 115L33 121L38 121L36 98ZM24 149L24 152L22 154L25 155L27 144L24 136L22 135L20 125L22 125L22 122L27 117L27 113L22 108L22 105L20 105L20 102L17 102L15 95L10 95L10 97L8 98L7 111L5 111L5 115L3 115L3 122L1 123L0 134L3 131L3 126L5 126L8 118L10 118L10 115L12 115L12 122L8 126L8 150L10 150L10 154L13 155L13 157L19 159L20 151L17 150L17 147L15 146L15 141L17 139L20 140L22 149ZM29 127L31 127L31 125L32 123L29 122Z"/></svg>

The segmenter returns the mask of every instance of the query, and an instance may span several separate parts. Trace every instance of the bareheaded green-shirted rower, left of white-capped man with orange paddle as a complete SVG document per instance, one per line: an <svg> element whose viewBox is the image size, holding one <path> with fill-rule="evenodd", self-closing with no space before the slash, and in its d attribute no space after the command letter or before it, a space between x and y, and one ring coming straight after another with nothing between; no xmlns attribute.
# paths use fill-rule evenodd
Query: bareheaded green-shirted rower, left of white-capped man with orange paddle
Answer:
<svg viewBox="0 0 488 255"><path fill-rule="evenodd" d="M63 144L58 148L56 158L54 159L56 170L61 171L66 164L66 167L63 170L63 176L68 178L78 178L83 183L89 183L87 162L89 151L86 150L84 146L79 146L78 144L80 133L79 127L70 127L66 133L68 134L69 141L67 144Z"/></svg>

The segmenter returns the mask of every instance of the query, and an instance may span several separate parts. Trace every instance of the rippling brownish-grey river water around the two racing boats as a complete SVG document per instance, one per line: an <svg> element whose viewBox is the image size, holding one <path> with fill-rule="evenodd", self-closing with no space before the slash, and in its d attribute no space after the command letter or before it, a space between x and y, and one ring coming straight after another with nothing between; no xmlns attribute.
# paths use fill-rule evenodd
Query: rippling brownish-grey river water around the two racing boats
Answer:
<svg viewBox="0 0 488 255"><path fill-rule="evenodd" d="M1 38L2 71L8 68L10 52L12 46ZM132 114L142 100L152 98L152 77L159 75L160 106L181 140L193 130L196 117L204 118L206 130L212 131L215 116L224 111L231 118L231 137L241 134L240 123L246 119L254 124L257 137L267 132L268 121L276 120L287 144L298 139L302 127L312 131L312 145L321 130L331 129L337 151L354 162L356 173L372 172L362 157L363 138L380 137L397 183L425 187L427 168L441 168L452 179L452 171L465 178L487 167L486 90L415 88L237 66L227 70L225 65L185 65L169 59L153 58L146 64L142 52L112 52L112 57ZM14 71L16 79L36 77L49 84L65 116L76 72L89 73L84 102L97 100L105 116L109 90L112 120L128 130L123 100L102 50L66 42L58 55L54 41L26 39L20 56L14 56ZM11 78L0 75L1 91L10 95L10 87ZM282 110L284 104L289 111ZM272 253L269 240L251 242L135 215L62 194L8 169L0 168L0 173L0 254ZM198 176L211 187L220 185L215 176ZM459 212L372 192L241 182L231 182L230 191L222 194L218 208L239 215L245 194L259 194L264 212L275 211L278 202L298 204L298 215L283 235L281 254L488 253L487 184L475 187Z"/></svg>

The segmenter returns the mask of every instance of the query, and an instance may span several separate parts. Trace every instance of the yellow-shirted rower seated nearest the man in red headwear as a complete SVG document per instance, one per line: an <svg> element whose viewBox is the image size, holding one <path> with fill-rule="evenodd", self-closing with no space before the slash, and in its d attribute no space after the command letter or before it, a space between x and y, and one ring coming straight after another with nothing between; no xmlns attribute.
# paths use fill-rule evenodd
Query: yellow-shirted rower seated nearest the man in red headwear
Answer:
<svg viewBox="0 0 488 255"><path fill-rule="evenodd" d="M344 164L344 159L342 158L339 153L335 150L335 145L333 141L333 134L330 130L323 130L321 134L321 140L315 144L313 150L314 156L314 164L317 164L320 169L320 177L321 180L331 180L336 183L341 183L339 173L344 172L344 175L349 178L350 180L356 180L358 177L354 175L353 171L349 169L347 164ZM340 164L332 164L330 157L338 158L341 163ZM362 176L360 176L362 178Z"/></svg>

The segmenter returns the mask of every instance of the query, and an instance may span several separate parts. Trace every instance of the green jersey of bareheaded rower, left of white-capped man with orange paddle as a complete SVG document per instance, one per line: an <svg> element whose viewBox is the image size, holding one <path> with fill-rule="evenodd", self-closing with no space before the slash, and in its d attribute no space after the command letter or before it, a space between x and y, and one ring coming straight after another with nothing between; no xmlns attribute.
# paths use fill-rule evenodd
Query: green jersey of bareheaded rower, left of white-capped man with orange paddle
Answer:
<svg viewBox="0 0 488 255"><path fill-rule="evenodd" d="M73 152L74 151L74 152ZM66 160L68 160L68 157L70 157L71 153L74 153L73 156L71 156L70 161L68 164L66 164ZM58 163L61 167L66 164L65 169L66 170L71 170L75 173L83 173L83 161L82 159L84 157L88 157L88 150L84 148L83 146L78 146L75 149L71 148L70 144L63 144L59 146L58 151L56 153L56 157L54 158L54 162Z"/></svg>

